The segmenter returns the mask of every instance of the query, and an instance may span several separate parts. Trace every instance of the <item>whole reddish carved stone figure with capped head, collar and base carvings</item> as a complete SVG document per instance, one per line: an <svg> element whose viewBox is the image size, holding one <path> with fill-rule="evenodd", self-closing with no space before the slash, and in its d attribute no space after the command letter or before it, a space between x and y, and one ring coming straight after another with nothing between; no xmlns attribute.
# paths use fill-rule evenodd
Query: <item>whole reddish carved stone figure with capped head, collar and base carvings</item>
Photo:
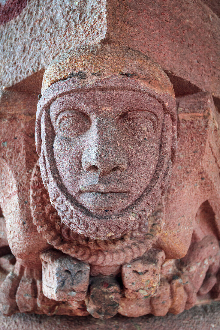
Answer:
<svg viewBox="0 0 220 330"><path fill-rule="evenodd" d="M58 56L22 216L13 166L2 165L0 247L16 263L1 312L162 316L219 299L219 124L210 93L176 99L138 51L103 43Z"/></svg>

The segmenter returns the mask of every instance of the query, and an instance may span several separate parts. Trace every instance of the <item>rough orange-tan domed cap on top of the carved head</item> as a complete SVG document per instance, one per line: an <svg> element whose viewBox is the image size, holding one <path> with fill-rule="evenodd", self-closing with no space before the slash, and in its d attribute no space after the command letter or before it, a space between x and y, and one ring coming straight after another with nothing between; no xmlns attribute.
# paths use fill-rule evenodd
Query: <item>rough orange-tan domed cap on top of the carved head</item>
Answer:
<svg viewBox="0 0 220 330"><path fill-rule="evenodd" d="M127 75L128 78L138 76L156 92L174 96L166 74L150 57L127 47L103 43L69 50L57 56L44 73L41 92L67 78L76 78L79 88L113 74Z"/></svg>

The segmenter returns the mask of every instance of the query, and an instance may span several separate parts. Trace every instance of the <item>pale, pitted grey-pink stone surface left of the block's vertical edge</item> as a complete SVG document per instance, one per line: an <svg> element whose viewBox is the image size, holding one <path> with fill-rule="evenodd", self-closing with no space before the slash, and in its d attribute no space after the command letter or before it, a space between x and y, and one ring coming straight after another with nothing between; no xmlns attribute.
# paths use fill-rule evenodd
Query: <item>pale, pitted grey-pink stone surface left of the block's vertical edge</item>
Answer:
<svg viewBox="0 0 220 330"><path fill-rule="evenodd" d="M0 26L0 90L45 69L64 50L97 44L105 33L105 0L28 1L20 15Z"/></svg>

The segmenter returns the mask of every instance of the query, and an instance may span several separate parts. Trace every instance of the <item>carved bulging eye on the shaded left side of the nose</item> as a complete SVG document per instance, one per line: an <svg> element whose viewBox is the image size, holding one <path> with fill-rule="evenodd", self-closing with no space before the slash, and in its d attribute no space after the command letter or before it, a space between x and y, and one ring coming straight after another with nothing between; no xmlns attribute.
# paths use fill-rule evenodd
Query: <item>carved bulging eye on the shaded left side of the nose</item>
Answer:
<svg viewBox="0 0 220 330"><path fill-rule="evenodd" d="M85 133L90 128L90 120L79 111L62 112L56 119L57 133L73 138Z"/></svg>

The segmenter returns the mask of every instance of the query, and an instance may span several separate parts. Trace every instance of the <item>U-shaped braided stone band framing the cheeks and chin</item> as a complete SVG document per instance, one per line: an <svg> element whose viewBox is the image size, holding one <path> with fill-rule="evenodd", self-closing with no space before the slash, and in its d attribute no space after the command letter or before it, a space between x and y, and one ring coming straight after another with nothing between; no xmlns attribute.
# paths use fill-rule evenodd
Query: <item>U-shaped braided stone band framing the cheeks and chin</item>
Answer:
<svg viewBox="0 0 220 330"><path fill-rule="evenodd" d="M171 139L171 132L167 136L167 127L170 122L171 119L167 115L163 125L163 132L165 130L166 134L162 132L157 169L142 195L117 215L99 216L80 205L61 181L53 155L54 133L49 114L45 112L41 118L42 149L39 163L45 188L48 190L51 204L60 216L61 222L78 234L83 234L93 240L117 239L137 229L140 223L147 224L148 217L164 195L171 176L171 148L167 148L167 139Z"/></svg>

